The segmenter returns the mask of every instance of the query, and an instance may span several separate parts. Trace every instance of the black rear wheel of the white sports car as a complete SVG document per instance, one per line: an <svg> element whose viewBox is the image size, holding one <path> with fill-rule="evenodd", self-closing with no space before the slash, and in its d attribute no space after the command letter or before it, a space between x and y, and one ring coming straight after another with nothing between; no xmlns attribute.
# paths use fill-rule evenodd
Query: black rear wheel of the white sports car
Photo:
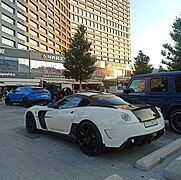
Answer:
<svg viewBox="0 0 181 180"><path fill-rule="evenodd" d="M91 122L83 122L77 130L77 143L82 152L96 156L102 151L102 138L98 128Z"/></svg>

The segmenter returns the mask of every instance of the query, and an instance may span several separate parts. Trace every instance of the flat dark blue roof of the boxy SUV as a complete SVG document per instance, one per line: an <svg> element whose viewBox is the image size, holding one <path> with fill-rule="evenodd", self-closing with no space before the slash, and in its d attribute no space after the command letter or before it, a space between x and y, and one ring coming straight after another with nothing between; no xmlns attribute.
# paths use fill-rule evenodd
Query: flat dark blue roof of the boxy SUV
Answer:
<svg viewBox="0 0 181 180"><path fill-rule="evenodd" d="M173 76L173 75L181 75L181 71L149 73L149 74L135 75L133 77L153 77L153 76Z"/></svg>

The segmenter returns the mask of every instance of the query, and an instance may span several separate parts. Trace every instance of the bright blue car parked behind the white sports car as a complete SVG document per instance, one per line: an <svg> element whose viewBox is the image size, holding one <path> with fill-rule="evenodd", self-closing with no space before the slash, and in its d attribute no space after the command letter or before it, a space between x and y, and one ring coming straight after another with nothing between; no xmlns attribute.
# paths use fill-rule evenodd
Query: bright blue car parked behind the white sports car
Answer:
<svg viewBox="0 0 181 180"><path fill-rule="evenodd" d="M50 92L41 87L18 87L16 90L11 90L5 98L5 103L7 105L21 103L24 107L30 107L36 103L50 101Z"/></svg>

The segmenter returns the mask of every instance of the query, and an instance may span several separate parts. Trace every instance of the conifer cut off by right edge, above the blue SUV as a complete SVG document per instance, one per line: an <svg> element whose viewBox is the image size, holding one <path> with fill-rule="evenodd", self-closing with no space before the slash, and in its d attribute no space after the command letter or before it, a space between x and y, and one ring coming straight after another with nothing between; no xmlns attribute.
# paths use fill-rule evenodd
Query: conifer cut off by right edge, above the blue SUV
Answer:
<svg viewBox="0 0 181 180"><path fill-rule="evenodd" d="M173 45L164 44L164 50L161 54L164 56L162 64L166 65L169 71L181 70L181 18L176 17L173 25L170 37L173 40Z"/></svg>

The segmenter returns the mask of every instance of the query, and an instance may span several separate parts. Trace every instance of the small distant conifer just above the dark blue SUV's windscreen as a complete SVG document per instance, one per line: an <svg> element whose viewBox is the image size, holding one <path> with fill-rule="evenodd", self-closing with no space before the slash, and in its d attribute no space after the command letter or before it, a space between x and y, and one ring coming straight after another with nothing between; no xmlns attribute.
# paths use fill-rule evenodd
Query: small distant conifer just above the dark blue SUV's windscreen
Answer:
<svg viewBox="0 0 181 180"><path fill-rule="evenodd" d="M149 64L150 58L149 56L143 54L140 50L138 56L134 58L134 75L152 73L153 66Z"/></svg>

